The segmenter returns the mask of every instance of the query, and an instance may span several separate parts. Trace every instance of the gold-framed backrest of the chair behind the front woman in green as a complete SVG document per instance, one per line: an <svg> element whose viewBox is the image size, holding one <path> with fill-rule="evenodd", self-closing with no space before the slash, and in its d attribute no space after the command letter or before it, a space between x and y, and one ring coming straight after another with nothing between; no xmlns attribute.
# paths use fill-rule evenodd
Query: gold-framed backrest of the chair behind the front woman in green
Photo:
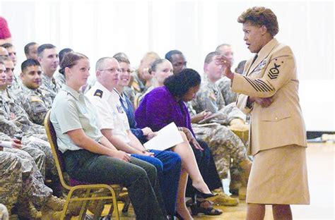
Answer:
<svg viewBox="0 0 335 220"><path fill-rule="evenodd" d="M56 135L56 132L54 131L54 126L52 125L50 121L50 112L51 110L49 110L47 112L47 115L45 116L45 131L47 133L47 139L49 140L49 143L52 149L52 155L54 156L54 161L57 166L57 171L59 175L59 180L61 181L61 185L63 185L64 188L70 190L71 186L69 186L64 181L63 172L65 170L65 164L64 164L63 154L58 149L57 135Z"/></svg>

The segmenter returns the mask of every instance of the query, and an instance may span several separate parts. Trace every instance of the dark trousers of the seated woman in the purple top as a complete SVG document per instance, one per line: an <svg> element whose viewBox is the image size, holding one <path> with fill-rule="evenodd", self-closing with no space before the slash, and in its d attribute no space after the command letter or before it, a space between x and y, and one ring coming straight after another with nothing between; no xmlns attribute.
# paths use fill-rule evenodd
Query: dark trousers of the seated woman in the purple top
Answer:
<svg viewBox="0 0 335 220"><path fill-rule="evenodd" d="M218 171L214 163L213 155L211 149L208 147L204 140L196 139L199 145L204 149L203 151L195 149L193 145L192 149L194 156L196 157L196 164L199 166L199 170L202 178L204 178L205 183L208 185L210 190L215 190L222 187L220 176L218 176ZM187 181L186 196L192 197L194 195L194 187L192 186L191 178Z"/></svg>

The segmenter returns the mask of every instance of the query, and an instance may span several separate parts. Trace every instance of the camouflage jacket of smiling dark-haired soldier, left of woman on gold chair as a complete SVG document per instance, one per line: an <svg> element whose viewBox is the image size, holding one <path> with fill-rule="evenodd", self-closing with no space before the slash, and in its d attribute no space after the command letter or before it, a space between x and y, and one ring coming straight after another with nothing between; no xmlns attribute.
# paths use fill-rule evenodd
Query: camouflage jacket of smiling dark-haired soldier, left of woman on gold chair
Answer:
<svg viewBox="0 0 335 220"><path fill-rule="evenodd" d="M18 93L20 105L25 109L29 118L33 123L43 125L45 115L52 106L52 94L45 90L31 90L25 85L22 86L22 91Z"/></svg>

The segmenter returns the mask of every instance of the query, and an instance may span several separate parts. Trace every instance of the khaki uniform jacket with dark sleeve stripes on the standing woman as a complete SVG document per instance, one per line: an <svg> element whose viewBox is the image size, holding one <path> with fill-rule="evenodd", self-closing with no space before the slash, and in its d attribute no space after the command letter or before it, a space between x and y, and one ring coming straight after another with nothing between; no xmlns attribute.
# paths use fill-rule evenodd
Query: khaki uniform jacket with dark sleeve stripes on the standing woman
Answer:
<svg viewBox="0 0 335 220"><path fill-rule="evenodd" d="M257 55L254 63L247 61L245 74L235 74L232 82L232 90L240 93L237 107L251 114L248 154L285 145L307 146L293 52L272 39ZM248 97L273 97L274 102L267 108L256 102L247 106Z"/></svg>

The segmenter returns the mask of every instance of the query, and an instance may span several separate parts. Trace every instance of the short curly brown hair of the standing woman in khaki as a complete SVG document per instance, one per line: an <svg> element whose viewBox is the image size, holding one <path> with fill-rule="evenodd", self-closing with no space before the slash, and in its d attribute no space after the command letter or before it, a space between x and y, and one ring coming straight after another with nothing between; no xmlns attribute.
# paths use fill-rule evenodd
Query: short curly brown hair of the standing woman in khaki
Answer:
<svg viewBox="0 0 335 220"><path fill-rule="evenodd" d="M249 22L259 27L264 25L273 37L279 31L277 16L271 9L265 7L248 8L237 18L237 22L243 24Z"/></svg>

